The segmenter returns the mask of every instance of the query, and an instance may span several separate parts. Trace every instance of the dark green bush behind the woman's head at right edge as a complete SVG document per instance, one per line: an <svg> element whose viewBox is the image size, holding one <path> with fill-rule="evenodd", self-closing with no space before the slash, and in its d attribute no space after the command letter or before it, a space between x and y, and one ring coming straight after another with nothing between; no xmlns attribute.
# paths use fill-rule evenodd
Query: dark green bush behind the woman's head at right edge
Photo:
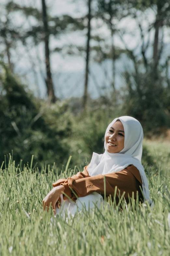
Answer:
<svg viewBox="0 0 170 256"><path fill-rule="evenodd" d="M152 74L151 71L142 73L140 68L137 73L124 74L128 89L124 98L126 114L139 120L149 137L160 135L170 127L170 90L167 85L163 87L166 77L161 72L158 72L158 78Z"/></svg>

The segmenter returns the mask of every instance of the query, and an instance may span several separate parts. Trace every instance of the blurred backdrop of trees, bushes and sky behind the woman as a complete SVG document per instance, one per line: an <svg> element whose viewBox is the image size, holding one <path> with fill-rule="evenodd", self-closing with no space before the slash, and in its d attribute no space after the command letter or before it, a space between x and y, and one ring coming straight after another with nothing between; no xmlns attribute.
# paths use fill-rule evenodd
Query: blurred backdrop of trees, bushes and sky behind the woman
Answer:
<svg viewBox="0 0 170 256"><path fill-rule="evenodd" d="M122 115L169 158L169 1L1 0L0 164L83 166Z"/></svg>

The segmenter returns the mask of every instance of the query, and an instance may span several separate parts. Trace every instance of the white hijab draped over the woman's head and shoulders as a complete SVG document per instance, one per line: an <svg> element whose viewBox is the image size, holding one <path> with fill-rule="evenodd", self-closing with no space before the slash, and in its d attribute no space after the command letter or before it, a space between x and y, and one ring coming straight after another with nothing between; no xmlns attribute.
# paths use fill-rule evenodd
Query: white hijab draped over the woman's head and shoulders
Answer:
<svg viewBox="0 0 170 256"><path fill-rule="evenodd" d="M92 160L88 168L89 175L95 176L98 174L105 175L112 172L119 172L128 165L133 164L141 175L144 201L147 200L150 205L153 205L150 199L148 180L141 164L143 141L142 126L139 121L131 116L121 116L115 118L108 125L106 133L117 120L120 120L124 127L124 148L119 153L109 153L106 150L105 142L104 154L99 155L93 152Z"/></svg>

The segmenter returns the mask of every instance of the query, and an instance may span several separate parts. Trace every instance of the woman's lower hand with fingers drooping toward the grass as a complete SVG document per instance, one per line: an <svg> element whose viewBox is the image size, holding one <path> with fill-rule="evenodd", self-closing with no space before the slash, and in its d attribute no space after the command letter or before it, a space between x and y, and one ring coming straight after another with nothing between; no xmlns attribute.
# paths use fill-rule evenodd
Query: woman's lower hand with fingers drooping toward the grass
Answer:
<svg viewBox="0 0 170 256"><path fill-rule="evenodd" d="M55 214L55 205L59 199L60 194L64 193L64 186L60 185L51 189L50 193L43 199L43 209L49 211L50 203Z"/></svg>

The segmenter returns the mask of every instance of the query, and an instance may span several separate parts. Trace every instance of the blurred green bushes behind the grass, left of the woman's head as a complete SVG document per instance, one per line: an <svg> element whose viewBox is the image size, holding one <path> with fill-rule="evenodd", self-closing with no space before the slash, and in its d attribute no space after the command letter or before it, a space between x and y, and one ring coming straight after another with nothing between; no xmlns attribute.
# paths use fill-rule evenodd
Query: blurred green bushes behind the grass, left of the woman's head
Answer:
<svg viewBox="0 0 170 256"><path fill-rule="evenodd" d="M90 162L93 152L104 152L107 125L122 115L121 108L111 107L112 102L106 98L92 101L88 112L77 113L77 116L71 114L76 109L73 105L68 107L68 102L48 106L44 100L26 91L8 69L4 69L1 76L1 88L1 163L4 155L13 151L17 163L22 160L27 164L34 155L34 164L38 162L39 167L44 167L45 162L50 165L55 162L61 168L71 155L70 164L84 166ZM154 165L146 146L143 164Z"/></svg>

